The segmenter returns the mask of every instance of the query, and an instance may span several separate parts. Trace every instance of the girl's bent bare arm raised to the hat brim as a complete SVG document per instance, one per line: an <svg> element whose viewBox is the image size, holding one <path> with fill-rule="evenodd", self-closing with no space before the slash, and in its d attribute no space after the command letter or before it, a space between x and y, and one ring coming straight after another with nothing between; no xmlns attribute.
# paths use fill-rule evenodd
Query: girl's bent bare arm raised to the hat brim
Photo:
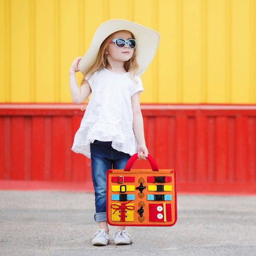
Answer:
<svg viewBox="0 0 256 256"><path fill-rule="evenodd" d="M79 71L78 63L81 59L81 57L76 58L69 70L69 88L75 104L83 102L91 93L91 87L87 81L80 87L77 85L75 73Z"/></svg>

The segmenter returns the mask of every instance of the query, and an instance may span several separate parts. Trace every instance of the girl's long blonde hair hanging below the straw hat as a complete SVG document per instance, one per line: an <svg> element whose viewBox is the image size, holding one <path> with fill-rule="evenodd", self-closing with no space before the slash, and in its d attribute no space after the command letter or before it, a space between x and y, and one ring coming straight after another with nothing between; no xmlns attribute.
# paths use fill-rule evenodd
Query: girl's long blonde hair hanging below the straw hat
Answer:
<svg viewBox="0 0 256 256"><path fill-rule="evenodd" d="M120 30L120 31L122 31L122 30ZM119 32L119 31L116 31L116 32ZM108 36L101 43L101 45L99 47L99 50L98 50L98 55L97 55L96 61L93 64L93 66L83 76L83 79L81 81L81 85L83 85L83 84L85 84L85 82L87 82L85 77L87 77L87 79L89 79L94 72L100 71L100 70L102 70L102 69L104 69L108 66L108 60L107 60L107 56L106 56L105 52L106 52L107 47L109 45L110 38L116 32L112 33L110 36ZM128 32L131 33L133 39L136 39L134 37L134 34L131 31L128 31ZM134 76L135 76L135 74L136 74L136 72L139 68L139 65L138 65L138 62L137 62L137 48L134 49L134 53L133 53L132 58L130 60L124 62L123 67L124 67L126 72L130 72L132 74L133 79L134 79ZM83 106L81 108L81 110L85 110L86 104L88 104L88 98L85 100L85 106Z"/></svg>

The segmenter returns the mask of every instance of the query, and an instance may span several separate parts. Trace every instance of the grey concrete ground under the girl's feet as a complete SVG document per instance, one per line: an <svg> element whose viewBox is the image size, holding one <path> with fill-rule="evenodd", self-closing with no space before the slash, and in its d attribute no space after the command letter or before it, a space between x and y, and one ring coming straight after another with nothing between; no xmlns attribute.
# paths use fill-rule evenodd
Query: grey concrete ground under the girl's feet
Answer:
<svg viewBox="0 0 256 256"><path fill-rule="evenodd" d="M1 256L256 256L256 196L178 195L172 227L128 227L130 245L93 246L94 194L0 191ZM110 227L110 238L116 227Z"/></svg>

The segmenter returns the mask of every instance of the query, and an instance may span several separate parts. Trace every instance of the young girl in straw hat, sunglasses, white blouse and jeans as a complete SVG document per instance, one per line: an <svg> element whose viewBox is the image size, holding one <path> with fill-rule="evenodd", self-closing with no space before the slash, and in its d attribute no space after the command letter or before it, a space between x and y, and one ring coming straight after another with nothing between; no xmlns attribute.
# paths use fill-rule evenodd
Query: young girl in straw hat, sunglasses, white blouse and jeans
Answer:
<svg viewBox="0 0 256 256"><path fill-rule="evenodd" d="M92 244L109 243L106 215L106 171L124 169L130 156L146 159L143 118L139 96L144 90L140 76L152 61L159 34L124 20L101 24L83 58L70 68L70 91L74 103L89 104L74 137L72 150L91 158L95 190L95 220L99 224ZM75 73L84 74L81 86ZM115 244L130 244L125 227L118 227Z"/></svg>

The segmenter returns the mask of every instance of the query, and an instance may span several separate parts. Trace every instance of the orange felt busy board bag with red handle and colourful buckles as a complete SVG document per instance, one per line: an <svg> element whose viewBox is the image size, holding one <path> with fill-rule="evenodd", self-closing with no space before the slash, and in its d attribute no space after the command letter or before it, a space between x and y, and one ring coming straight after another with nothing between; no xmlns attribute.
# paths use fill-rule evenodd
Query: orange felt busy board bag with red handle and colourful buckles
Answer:
<svg viewBox="0 0 256 256"><path fill-rule="evenodd" d="M107 171L107 220L112 226L172 226L177 220L176 171L132 169L137 154L124 170Z"/></svg>

